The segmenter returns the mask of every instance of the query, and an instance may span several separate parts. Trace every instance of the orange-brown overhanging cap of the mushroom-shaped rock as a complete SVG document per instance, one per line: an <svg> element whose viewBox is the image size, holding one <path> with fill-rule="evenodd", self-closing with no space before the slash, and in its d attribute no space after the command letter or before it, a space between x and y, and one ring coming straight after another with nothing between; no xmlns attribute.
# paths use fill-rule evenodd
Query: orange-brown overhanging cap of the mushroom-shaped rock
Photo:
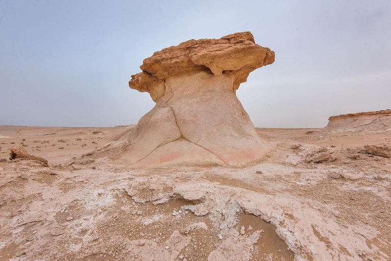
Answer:
<svg viewBox="0 0 391 261"><path fill-rule="evenodd" d="M157 101L167 92L165 81L171 76L208 70L214 75L233 75L235 93L250 72L274 62L274 52L255 43L250 32L235 33L220 39L189 40L164 48L144 60L142 72L132 75L129 87L149 92Z"/></svg>

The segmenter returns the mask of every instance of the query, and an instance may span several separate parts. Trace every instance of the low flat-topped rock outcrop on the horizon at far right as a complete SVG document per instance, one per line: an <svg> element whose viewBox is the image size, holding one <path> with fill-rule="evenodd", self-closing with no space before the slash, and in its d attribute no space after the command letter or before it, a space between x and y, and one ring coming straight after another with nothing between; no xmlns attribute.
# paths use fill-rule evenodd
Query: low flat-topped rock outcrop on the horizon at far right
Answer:
<svg viewBox="0 0 391 261"><path fill-rule="evenodd" d="M328 124L326 128L346 131L391 131L391 110L331 116L328 118Z"/></svg>

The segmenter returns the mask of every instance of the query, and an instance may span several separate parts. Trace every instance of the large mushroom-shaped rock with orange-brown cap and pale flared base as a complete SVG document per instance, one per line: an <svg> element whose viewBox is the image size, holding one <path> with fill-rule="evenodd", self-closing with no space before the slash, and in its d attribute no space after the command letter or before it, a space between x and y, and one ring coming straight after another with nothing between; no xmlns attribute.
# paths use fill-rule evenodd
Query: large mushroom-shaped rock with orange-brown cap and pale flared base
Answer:
<svg viewBox="0 0 391 261"><path fill-rule="evenodd" d="M250 32L189 40L144 60L129 87L149 92L155 107L114 140L125 140L126 165L229 165L259 162L269 150L236 97L274 52Z"/></svg>

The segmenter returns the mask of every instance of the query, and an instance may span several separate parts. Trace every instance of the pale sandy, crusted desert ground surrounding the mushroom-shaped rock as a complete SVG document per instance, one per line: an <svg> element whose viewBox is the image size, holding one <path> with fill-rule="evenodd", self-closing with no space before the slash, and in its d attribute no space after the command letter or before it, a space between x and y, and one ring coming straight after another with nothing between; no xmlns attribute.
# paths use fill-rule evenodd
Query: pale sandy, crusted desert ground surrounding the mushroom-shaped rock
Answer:
<svg viewBox="0 0 391 261"><path fill-rule="evenodd" d="M279 149L242 169L64 165L124 128L0 126L0 260L391 259L391 159L362 147L389 132L257 128Z"/></svg>

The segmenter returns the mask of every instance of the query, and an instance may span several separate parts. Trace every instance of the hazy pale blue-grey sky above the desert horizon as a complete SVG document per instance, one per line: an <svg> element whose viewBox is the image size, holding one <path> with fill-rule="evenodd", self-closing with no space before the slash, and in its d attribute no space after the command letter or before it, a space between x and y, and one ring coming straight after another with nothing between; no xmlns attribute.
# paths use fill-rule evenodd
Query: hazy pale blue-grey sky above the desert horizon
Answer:
<svg viewBox="0 0 391 261"><path fill-rule="evenodd" d="M0 0L0 125L136 124L155 103L128 86L189 39L250 31L275 62L237 96L256 127L324 127L391 109L391 2Z"/></svg>

